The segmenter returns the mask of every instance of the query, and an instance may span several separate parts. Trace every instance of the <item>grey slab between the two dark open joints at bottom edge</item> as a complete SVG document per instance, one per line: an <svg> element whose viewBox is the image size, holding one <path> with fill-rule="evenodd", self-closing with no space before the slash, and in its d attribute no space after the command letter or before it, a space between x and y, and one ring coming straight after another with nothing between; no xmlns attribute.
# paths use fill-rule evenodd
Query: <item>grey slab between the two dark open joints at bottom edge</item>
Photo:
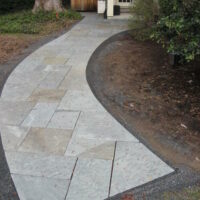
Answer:
<svg viewBox="0 0 200 200"><path fill-rule="evenodd" d="M66 200L102 200L108 197L112 161L79 159Z"/></svg>

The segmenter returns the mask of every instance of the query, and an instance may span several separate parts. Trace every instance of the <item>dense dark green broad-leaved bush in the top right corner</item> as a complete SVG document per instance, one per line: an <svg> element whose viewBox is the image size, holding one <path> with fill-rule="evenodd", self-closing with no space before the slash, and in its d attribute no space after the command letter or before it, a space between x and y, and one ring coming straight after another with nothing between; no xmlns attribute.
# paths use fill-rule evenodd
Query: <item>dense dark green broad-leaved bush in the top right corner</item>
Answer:
<svg viewBox="0 0 200 200"><path fill-rule="evenodd" d="M200 55L200 1L160 0L160 8L152 38L182 61L194 60Z"/></svg>

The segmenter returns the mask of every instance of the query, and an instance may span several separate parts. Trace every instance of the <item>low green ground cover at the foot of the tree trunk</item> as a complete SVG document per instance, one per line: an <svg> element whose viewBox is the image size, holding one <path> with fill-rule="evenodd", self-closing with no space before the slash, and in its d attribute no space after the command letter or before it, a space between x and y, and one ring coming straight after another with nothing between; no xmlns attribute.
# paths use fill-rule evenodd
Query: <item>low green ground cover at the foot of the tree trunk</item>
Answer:
<svg viewBox="0 0 200 200"><path fill-rule="evenodd" d="M0 33L41 34L66 27L69 21L80 20L81 15L72 10L61 13L25 10L0 15Z"/></svg>

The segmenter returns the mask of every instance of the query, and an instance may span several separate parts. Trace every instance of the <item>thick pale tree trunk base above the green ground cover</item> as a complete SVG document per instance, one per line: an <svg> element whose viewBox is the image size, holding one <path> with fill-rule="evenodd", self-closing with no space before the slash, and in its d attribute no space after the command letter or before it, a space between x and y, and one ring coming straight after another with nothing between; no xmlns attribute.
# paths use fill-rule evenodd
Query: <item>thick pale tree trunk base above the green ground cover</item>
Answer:
<svg viewBox="0 0 200 200"><path fill-rule="evenodd" d="M39 10L61 12L63 7L61 0L35 0L33 12Z"/></svg>

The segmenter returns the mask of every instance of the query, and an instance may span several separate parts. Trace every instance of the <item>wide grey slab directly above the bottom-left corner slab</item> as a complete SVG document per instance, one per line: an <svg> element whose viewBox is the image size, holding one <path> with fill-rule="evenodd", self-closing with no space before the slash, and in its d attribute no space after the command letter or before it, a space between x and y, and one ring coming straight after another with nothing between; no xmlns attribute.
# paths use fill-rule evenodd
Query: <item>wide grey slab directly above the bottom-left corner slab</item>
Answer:
<svg viewBox="0 0 200 200"><path fill-rule="evenodd" d="M38 155L23 152L6 152L10 172L29 176L70 179L75 157Z"/></svg>

